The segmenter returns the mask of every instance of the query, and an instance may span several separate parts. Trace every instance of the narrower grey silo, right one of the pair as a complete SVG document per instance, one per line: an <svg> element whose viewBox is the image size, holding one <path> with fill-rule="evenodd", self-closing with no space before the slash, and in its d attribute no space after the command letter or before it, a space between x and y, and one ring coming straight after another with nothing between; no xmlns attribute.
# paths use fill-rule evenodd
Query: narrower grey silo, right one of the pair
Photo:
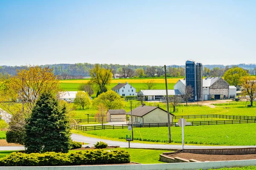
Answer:
<svg viewBox="0 0 256 170"><path fill-rule="evenodd" d="M203 100L203 65L201 62L195 64L197 100Z"/></svg>

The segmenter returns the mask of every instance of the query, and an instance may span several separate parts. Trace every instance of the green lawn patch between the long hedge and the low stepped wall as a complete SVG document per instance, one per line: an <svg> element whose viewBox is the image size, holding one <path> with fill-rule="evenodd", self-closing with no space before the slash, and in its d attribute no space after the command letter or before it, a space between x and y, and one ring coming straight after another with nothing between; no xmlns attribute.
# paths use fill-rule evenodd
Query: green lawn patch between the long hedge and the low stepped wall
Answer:
<svg viewBox="0 0 256 170"><path fill-rule="evenodd" d="M170 150L150 150L150 149L132 149L132 148L119 148L119 149L128 151L128 153L130 153L131 155L131 161L138 162L141 164L165 163L165 162L159 161L159 155L162 154L163 152L171 152ZM78 152L78 151L80 150L70 150L69 152L72 153L72 152Z"/></svg>

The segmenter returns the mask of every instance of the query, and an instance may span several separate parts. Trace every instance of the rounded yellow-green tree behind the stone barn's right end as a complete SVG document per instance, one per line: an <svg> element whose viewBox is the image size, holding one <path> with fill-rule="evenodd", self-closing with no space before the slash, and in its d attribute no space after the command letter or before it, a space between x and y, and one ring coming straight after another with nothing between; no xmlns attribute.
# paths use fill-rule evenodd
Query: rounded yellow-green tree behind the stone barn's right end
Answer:
<svg viewBox="0 0 256 170"><path fill-rule="evenodd" d="M242 68L235 67L235 68L230 68L226 73L224 74L224 79L226 80L227 83L230 85L241 85L241 78L244 76L249 76L247 71L245 71Z"/></svg>

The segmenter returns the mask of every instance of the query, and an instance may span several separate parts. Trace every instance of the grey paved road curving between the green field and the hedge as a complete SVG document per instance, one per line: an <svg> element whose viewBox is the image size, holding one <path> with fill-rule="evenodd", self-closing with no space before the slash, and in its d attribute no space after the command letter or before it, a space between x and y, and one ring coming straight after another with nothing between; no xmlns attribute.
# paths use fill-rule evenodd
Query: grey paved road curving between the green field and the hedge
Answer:
<svg viewBox="0 0 256 170"><path fill-rule="evenodd" d="M92 147L93 144L96 144L98 141L106 142L108 146L120 146L120 147L128 147L128 142L119 142L119 141L111 141L105 139L91 138L86 136L81 136L77 134L72 134L71 138L73 141L77 142L86 142L89 144L84 144L85 146ZM142 143L130 143L130 147L135 148L162 148L162 149L181 149L181 144L142 144ZM186 149L196 149L196 148L241 148L241 147L256 147L256 146L202 146L202 145L185 145ZM24 147L0 147L0 150L24 150Z"/></svg>

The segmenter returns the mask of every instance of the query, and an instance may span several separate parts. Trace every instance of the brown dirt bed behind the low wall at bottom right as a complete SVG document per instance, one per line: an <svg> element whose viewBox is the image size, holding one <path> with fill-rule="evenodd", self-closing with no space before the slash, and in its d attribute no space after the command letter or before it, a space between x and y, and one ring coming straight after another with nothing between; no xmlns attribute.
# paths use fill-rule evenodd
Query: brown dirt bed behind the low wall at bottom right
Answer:
<svg viewBox="0 0 256 170"><path fill-rule="evenodd" d="M197 154L197 153L176 153L170 154L169 157L180 157L183 159L195 159L197 161L235 161L235 160L246 160L256 159L256 154L245 154L245 155L208 155L208 154Z"/></svg>

